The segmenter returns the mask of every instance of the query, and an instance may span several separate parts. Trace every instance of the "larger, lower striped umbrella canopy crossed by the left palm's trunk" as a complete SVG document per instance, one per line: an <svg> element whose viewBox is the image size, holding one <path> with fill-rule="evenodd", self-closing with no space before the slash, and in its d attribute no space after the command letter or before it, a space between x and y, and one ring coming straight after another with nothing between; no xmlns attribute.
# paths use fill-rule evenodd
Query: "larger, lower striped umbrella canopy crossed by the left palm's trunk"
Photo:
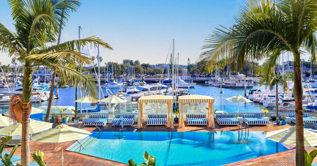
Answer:
<svg viewBox="0 0 317 166"><path fill-rule="evenodd" d="M47 123L47 122L42 122L42 121L37 121L37 120L32 120L30 119L30 124L29 124L29 133L30 134L35 134L47 129L52 128L53 123ZM17 136L22 134L22 124L21 123L13 123L10 124L9 126L6 126L2 129L0 129L1 135L5 136Z"/></svg>

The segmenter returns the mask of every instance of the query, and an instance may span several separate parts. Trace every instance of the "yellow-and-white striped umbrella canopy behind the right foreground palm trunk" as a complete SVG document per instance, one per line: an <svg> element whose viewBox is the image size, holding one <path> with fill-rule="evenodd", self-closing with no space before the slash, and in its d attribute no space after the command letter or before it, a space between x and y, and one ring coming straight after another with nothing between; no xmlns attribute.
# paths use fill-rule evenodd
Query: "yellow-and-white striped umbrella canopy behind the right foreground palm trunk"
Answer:
<svg viewBox="0 0 317 166"><path fill-rule="evenodd" d="M280 129L266 133L266 138L278 143L296 144L296 127ZM317 146L317 133L304 129L304 145Z"/></svg>

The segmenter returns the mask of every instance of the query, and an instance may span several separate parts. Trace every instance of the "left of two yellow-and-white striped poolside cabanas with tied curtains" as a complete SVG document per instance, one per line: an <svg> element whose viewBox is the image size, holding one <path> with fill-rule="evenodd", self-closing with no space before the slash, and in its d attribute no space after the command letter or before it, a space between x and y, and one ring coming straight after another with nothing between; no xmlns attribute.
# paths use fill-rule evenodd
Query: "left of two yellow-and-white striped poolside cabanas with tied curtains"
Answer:
<svg viewBox="0 0 317 166"><path fill-rule="evenodd" d="M142 128L142 118L143 118L143 103L166 103L167 104L167 127L171 127L171 114L172 114L172 104L173 97L172 96L164 96L164 95L150 95L150 96L142 96L138 99L138 128Z"/></svg>

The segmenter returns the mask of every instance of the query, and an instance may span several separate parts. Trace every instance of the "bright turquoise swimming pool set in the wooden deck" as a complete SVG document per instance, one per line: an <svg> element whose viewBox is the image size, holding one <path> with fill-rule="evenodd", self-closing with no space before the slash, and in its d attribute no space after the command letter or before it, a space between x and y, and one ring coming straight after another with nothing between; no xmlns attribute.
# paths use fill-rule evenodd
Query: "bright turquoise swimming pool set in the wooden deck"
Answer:
<svg viewBox="0 0 317 166"><path fill-rule="evenodd" d="M223 165L288 150L263 132L93 132L66 150L121 163L143 163L147 151L156 165Z"/></svg>

